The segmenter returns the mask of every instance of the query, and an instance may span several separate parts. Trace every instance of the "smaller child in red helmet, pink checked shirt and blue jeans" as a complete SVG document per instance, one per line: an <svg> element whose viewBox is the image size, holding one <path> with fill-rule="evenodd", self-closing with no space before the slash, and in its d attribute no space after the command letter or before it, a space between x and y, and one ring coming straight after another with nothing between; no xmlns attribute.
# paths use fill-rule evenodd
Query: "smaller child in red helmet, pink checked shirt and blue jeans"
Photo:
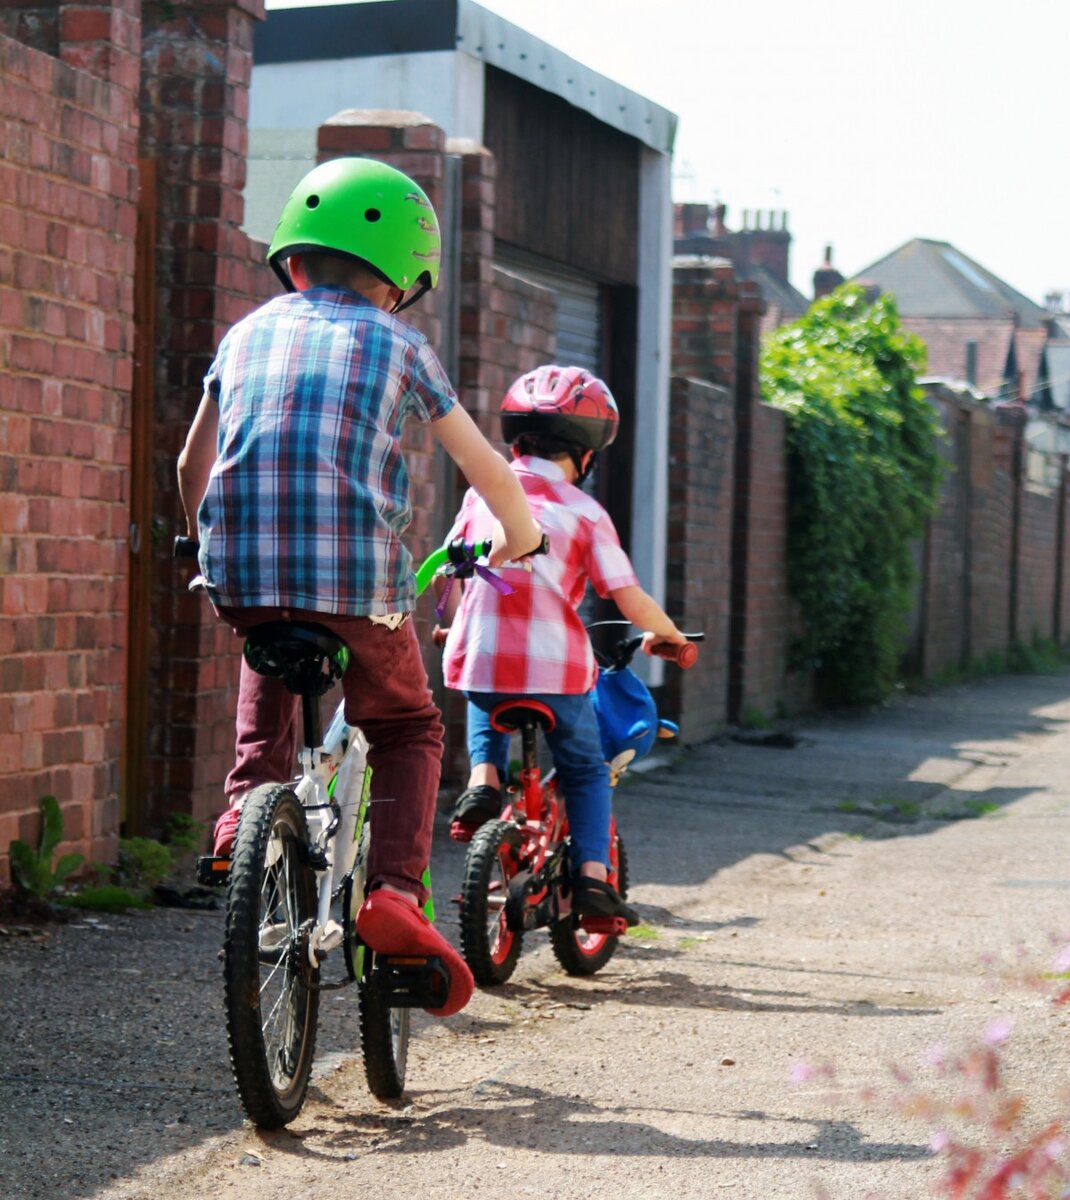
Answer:
<svg viewBox="0 0 1070 1200"><path fill-rule="evenodd" d="M542 366L517 379L501 403L512 469L546 534L546 556L499 569L512 592L470 581L455 604L445 643L445 680L468 697L470 774L453 821L470 829L498 816L509 738L489 713L511 696L540 700L554 713L547 734L571 835L575 912L638 922L607 882L612 788L591 701L597 665L578 608L588 583L649 632L645 652L686 638L648 595L609 514L582 491L595 455L617 437L620 418L606 384L582 367ZM493 517L469 491L450 538L489 536Z"/></svg>

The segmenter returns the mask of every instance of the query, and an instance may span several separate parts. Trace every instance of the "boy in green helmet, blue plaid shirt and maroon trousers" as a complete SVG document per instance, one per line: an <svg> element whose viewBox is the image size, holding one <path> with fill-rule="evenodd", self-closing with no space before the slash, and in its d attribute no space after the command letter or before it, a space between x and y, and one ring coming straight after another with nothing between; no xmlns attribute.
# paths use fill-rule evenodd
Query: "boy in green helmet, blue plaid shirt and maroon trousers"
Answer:
<svg viewBox="0 0 1070 1200"><path fill-rule="evenodd" d="M383 802L357 930L384 954L440 955L451 983L435 1012L446 1015L473 982L420 911L443 727L409 619L405 419L431 422L499 520L495 562L542 538L426 338L396 316L434 287L439 246L431 202L395 168L335 158L309 172L269 250L287 294L223 337L179 457L179 491L209 596L238 634L312 620L349 646L345 719L368 739L372 799ZM296 749L296 697L242 661L216 854L229 853L245 793L293 778Z"/></svg>

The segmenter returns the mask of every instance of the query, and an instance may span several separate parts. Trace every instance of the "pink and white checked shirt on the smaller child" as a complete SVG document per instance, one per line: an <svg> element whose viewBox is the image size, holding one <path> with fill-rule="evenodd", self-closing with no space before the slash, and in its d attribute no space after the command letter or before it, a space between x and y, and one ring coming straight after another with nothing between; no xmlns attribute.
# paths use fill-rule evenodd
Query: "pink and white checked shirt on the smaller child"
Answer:
<svg viewBox="0 0 1070 1200"><path fill-rule="evenodd" d="M549 538L549 553L525 566L501 566L515 590L499 594L485 580L464 584L445 648L447 688L511 695L590 691L597 665L577 608L588 581L601 596L637 583L609 514L565 480L546 458L516 458L512 469L531 515ZM488 538L493 517L469 490L450 538Z"/></svg>

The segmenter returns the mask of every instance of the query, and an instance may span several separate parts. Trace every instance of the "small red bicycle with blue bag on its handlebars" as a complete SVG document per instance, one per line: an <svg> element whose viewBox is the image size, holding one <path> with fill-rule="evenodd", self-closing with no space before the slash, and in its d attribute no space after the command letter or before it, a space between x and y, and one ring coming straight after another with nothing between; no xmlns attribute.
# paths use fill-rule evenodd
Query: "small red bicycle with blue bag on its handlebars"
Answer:
<svg viewBox="0 0 1070 1200"><path fill-rule="evenodd" d="M621 622L619 624L627 624ZM689 643L662 643L661 658L681 667L695 664L698 652ZM643 635L618 642L608 656L597 654L600 671L595 706L602 746L615 787L630 762L649 752L656 737L675 737L671 721L657 718L649 690L629 667ZM461 948L481 986L505 983L516 968L524 934L547 929L553 953L572 976L600 971L613 956L626 931L624 917L578 916L569 908L569 821L554 772L539 767L540 730L553 728L553 713L537 700L517 696L503 701L491 724L505 733L518 732L522 744L519 785L497 821L481 826L469 842L461 890ZM627 896L627 854L609 827L608 882Z"/></svg>

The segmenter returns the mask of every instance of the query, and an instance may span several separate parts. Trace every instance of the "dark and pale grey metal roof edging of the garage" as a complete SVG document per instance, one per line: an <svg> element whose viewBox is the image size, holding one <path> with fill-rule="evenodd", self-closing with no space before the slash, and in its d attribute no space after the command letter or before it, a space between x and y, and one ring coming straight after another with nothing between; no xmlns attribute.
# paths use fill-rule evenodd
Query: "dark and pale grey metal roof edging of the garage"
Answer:
<svg viewBox="0 0 1070 1200"><path fill-rule="evenodd" d="M677 116L473 0L377 0L270 8L254 31L257 66L455 49L560 96L597 120L671 154Z"/></svg>

